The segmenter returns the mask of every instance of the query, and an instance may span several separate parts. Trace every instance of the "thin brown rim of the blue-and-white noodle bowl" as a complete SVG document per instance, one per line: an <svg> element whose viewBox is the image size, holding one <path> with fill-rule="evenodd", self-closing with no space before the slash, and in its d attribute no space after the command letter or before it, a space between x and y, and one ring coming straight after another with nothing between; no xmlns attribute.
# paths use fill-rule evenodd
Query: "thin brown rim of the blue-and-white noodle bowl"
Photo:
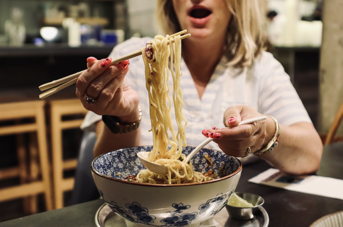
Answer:
<svg viewBox="0 0 343 227"><path fill-rule="evenodd" d="M136 146L136 147L147 147L147 146L151 146L151 145L146 145L146 146ZM190 146L190 147L193 147L193 146ZM128 148L133 148L133 147L128 147ZM124 149L127 149L127 148L121 148L121 149L118 149L118 150L115 150L115 151L120 151L120 150L124 150ZM215 150L215 149L212 149L212 148L206 148L206 149L209 149L209 150L213 150L213 151L218 151L218 150ZM111 152L115 152L115 151L111 151ZM223 152L223 151L218 151L218 152ZM140 186L144 186L144 187L182 187L182 186L196 186L196 185L201 185L201 184L207 184L207 183L214 183L214 182L217 182L217 181L222 181L222 180L225 180L227 178L230 178L230 177L233 177L234 175L237 175L241 170L242 170L242 162L237 158L237 157L234 157L234 156L231 156L233 158L235 158L238 163L239 163L239 167L236 171L234 171L232 174L229 174L225 177L221 177L221 178L217 178L217 179L214 179L214 180L210 180L210 181L202 181L202 182L195 182L195 183L183 183L183 184L151 184L151 183L139 183L139 182L133 182L133 181L126 181L126 180L121 180L121 179L117 179L117 178L114 178L114 177L109 177L107 175L104 175L100 172L98 172L95 168L94 168L94 162L96 161L96 159L98 159L99 157L103 156L103 155L106 155L110 152L107 152L107 153L104 153L104 154L101 154L99 156L97 156L96 158L93 159L92 161L92 165L91 165L91 170L92 172L94 172L94 174L100 176L100 177L103 177L103 178L106 178L106 179L109 179L109 180L113 180L113 181L117 181L117 182L122 182L122 183L128 183L128 184L134 184L134 185L140 185ZM228 155L230 156L230 155Z"/></svg>

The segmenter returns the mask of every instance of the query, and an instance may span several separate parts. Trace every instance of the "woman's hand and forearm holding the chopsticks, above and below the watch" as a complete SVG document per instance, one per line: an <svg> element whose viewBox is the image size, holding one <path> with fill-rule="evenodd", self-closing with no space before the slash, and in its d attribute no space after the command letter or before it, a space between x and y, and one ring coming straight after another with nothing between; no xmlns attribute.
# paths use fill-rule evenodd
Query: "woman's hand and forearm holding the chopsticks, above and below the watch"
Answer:
<svg viewBox="0 0 343 227"><path fill-rule="evenodd" d="M111 60L88 58L88 69L76 81L76 95L87 110L97 115L116 116L122 125L132 124L139 119L140 110L139 96L125 80L129 60L112 66ZM95 100L89 102L89 96ZM103 121L99 121L96 132L95 156L139 144L139 128L127 133L113 133Z"/></svg>

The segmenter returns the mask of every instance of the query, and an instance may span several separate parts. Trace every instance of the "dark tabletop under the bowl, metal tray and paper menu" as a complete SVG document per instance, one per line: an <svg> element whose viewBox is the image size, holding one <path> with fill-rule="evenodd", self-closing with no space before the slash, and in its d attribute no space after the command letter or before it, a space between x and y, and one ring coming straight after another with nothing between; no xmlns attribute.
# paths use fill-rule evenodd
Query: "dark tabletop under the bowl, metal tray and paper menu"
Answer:
<svg viewBox="0 0 343 227"><path fill-rule="evenodd" d="M263 197L263 207L269 215L270 227L307 227L324 215L343 210L343 200L248 182L250 178L269 168L271 166L264 161L244 166L236 191L251 192ZM343 179L343 142L324 146L317 175ZM103 203L104 201L99 199L9 220L0 223L0 226L92 227L96 226L95 213Z"/></svg>

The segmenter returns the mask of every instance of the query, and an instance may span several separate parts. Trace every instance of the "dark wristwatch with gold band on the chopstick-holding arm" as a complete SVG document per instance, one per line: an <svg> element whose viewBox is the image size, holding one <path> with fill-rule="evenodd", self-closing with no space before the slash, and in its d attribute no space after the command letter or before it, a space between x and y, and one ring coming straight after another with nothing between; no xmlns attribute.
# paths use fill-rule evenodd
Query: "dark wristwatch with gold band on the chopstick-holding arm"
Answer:
<svg viewBox="0 0 343 227"><path fill-rule="evenodd" d="M139 110L139 118L137 121L131 124L122 124L119 120L119 117L112 116L112 115L103 115L102 119L103 119L103 122L106 124L106 126L114 134L132 132L133 130L138 129L140 121L142 119L142 109L140 106L138 106L138 110Z"/></svg>

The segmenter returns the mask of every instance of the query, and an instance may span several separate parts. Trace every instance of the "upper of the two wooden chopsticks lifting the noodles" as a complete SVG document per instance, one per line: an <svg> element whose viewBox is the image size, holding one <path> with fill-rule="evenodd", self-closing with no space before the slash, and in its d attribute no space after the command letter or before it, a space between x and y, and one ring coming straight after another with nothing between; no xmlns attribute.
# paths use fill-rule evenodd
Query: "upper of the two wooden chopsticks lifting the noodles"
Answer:
<svg viewBox="0 0 343 227"><path fill-rule="evenodd" d="M170 37L175 37L175 36L177 36L177 35L184 34L185 32L187 32L186 29L185 29L184 31L177 32L177 33L175 33L175 34L173 34L173 35L170 35L169 38L170 38ZM187 35L188 35L188 34L187 34ZM184 38L186 38L186 37L184 37ZM145 48L145 47L142 47L142 48ZM135 50L135 51L133 51L133 52L131 52L131 53L125 55L125 56L122 56L122 57L120 57L120 58L117 58L117 59L112 60L112 62L111 62L110 65L114 65L114 64L117 64L117 63L119 63L119 62L121 62L121 61L125 61L125 60L127 60L127 59L134 58L134 57L137 57L137 56L141 55L141 54L142 54L142 48L140 48L140 49L138 49L138 50ZM39 89L40 89L40 91L44 91L44 90L46 90L46 89L55 87L55 86L57 86L57 85L59 85L59 84L68 82L68 81L70 81L70 80L72 80L72 79L74 79L74 78L79 77L79 76L81 75L81 73L83 73L84 71L86 71L86 69L85 69L85 70L82 70L82 71L80 71L80 72L74 73L74 74L72 74L72 75L63 77L63 78L61 78L61 79L54 80L54 81L51 81L51 82L49 82L49 83L40 85L40 86L39 86Z"/></svg>

